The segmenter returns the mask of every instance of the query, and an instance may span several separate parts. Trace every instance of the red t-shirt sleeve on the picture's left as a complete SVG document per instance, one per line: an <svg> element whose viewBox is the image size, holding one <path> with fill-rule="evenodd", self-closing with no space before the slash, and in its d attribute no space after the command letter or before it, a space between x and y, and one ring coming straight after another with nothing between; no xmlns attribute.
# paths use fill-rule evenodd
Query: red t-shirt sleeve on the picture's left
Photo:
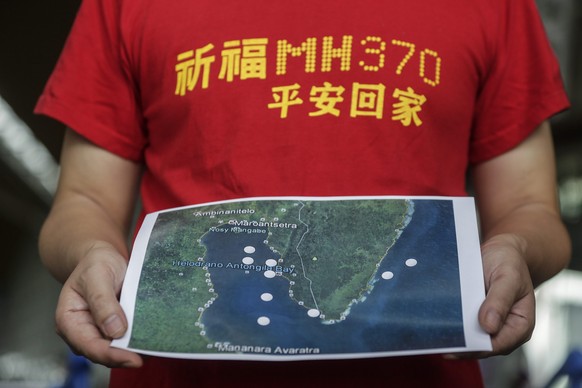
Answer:
<svg viewBox="0 0 582 388"><path fill-rule="evenodd" d="M121 39L122 2L84 0L35 112L140 161L143 119Z"/></svg>

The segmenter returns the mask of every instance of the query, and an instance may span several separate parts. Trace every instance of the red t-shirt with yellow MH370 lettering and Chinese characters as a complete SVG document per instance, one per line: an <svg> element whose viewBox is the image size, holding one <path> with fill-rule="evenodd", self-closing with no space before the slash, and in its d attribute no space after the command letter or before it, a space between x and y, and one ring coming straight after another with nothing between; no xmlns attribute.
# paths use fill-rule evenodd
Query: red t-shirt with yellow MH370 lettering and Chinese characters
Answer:
<svg viewBox="0 0 582 388"><path fill-rule="evenodd" d="M567 105L533 0L85 0L37 112L144 163L151 212L251 196L464 195L470 164ZM474 362L430 356L148 359L112 382L205 378L480 380Z"/></svg>

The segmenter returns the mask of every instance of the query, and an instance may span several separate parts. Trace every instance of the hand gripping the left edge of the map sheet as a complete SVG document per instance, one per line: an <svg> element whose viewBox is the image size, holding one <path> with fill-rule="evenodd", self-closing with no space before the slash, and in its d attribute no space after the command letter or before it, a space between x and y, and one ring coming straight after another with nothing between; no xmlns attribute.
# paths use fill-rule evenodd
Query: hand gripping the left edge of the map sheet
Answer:
<svg viewBox="0 0 582 388"><path fill-rule="evenodd" d="M57 333L78 355L108 367L140 367L139 355L110 347L127 330L118 302L126 260L113 247L95 244L63 285L56 311Z"/></svg>

